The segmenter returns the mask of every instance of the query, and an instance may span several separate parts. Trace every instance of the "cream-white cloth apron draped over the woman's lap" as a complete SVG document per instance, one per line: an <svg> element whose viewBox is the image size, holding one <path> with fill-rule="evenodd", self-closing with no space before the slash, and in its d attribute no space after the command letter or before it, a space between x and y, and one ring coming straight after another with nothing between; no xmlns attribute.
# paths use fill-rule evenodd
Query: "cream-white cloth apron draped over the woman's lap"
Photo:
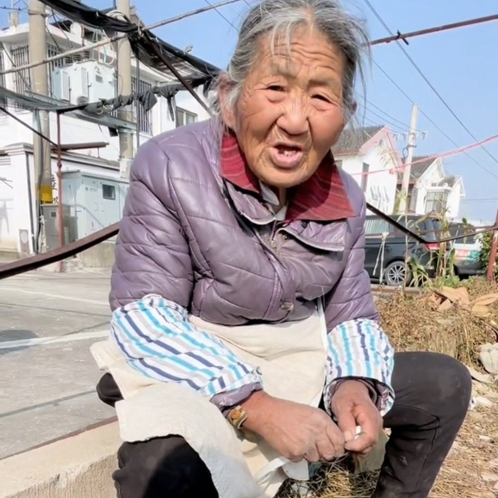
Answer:
<svg viewBox="0 0 498 498"><path fill-rule="evenodd" d="M194 316L190 321L219 338L247 364L259 367L268 394L318 406L327 358L321 303L299 322L227 327ZM123 394L116 404L123 441L170 434L184 437L210 470L220 498L274 497L287 477L309 478L306 461L289 462L261 438L236 431L201 394L136 372L111 339L94 344L91 351Z"/></svg>

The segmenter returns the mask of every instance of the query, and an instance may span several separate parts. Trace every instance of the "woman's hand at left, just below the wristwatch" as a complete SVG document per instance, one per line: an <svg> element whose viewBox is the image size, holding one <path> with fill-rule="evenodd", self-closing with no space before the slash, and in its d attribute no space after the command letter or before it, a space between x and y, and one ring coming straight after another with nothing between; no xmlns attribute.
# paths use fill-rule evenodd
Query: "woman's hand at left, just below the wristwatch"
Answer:
<svg viewBox="0 0 498 498"><path fill-rule="evenodd" d="M318 408L257 391L243 405L244 428L260 435L292 462L329 461L344 454L344 436L329 415Z"/></svg>

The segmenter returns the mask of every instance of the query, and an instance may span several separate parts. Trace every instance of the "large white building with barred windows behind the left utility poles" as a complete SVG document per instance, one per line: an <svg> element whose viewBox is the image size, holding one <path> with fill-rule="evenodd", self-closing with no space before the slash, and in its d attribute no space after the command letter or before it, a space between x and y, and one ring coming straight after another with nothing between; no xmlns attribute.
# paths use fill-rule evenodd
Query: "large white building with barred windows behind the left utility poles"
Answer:
<svg viewBox="0 0 498 498"><path fill-rule="evenodd" d="M3 48L0 51L0 67L3 70L29 63L28 32L28 23L11 25L0 30L0 42ZM47 21L47 55L53 56L88 45L103 36L106 35L102 31L88 29L69 20L56 23ZM116 62L116 53L109 44L50 63L50 97L73 104L76 104L81 97L89 102L100 98L114 98ZM150 69L142 63L139 64L137 78L134 58L131 60L131 65L133 91L143 92L152 86L173 81L171 75ZM29 90L29 71L0 76L0 86L25 94ZM201 89L199 95L202 96ZM176 118L170 116L167 101L161 97L158 97L158 103L148 112L144 112L139 106L137 113L137 106L132 106L140 129L140 143L162 131L209 117L187 91L179 92L175 101ZM35 126L31 111L22 109L13 102L0 102L0 105L6 105L8 111L21 122ZM54 113L50 113L49 116L50 138L56 142L56 116ZM69 217L81 218L82 211L86 211L86 218L93 217L93 223L82 224L80 220L76 238L89 235L119 221L122 198L127 185L120 177L119 137L116 133L111 133L106 124L98 124L95 120L88 121L70 115L61 116L62 144L95 142L105 142L107 146L63 153L63 207L70 208ZM133 143L136 149L135 135ZM57 202L55 150L52 150L51 167L53 197L54 202ZM66 179L67 185L65 185ZM33 166L32 131L0 112L0 252L33 253L36 248L35 240L40 218L35 195L37 183ZM74 190L78 184L82 191L96 194L95 198L71 193L71 188ZM79 205L79 202L84 202L84 205Z"/></svg>

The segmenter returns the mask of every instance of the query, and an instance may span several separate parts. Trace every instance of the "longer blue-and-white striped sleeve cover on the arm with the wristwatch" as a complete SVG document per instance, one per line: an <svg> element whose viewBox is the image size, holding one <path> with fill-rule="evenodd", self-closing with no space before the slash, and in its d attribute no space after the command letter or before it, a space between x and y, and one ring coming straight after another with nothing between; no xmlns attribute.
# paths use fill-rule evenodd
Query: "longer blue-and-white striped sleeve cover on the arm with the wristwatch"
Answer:
<svg viewBox="0 0 498 498"><path fill-rule="evenodd" d="M185 308L161 296L116 309L111 328L128 365L147 377L183 384L210 399L248 385L251 391L261 388L256 368L194 327Z"/></svg>

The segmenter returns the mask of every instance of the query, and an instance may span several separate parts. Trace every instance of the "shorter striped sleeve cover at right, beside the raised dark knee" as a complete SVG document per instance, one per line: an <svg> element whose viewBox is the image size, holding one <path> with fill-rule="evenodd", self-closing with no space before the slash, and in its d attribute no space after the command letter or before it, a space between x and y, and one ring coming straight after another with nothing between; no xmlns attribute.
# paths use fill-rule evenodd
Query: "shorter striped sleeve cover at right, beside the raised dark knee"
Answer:
<svg viewBox="0 0 498 498"><path fill-rule="evenodd" d="M375 320L356 319L340 323L328 334L326 409L330 413L334 384L355 377L373 381L378 391L377 405L384 416L394 402L393 367L394 350Z"/></svg>

